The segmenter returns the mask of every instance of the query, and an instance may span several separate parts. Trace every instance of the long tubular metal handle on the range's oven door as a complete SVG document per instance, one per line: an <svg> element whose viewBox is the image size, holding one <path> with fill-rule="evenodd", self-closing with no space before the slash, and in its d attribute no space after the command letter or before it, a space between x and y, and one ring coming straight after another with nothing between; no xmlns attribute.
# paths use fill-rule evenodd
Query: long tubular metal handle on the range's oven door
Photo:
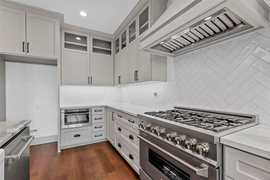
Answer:
<svg viewBox="0 0 270 180"><path fill-rule="evenodd" d="M138 137L139 139L143 140L144 142L150 144L150 145L153 146L154 148L158 149L159 151L161 151L161 152L165 153L166 155L170 156L170 157L173 158L174 160L176 160L176 161L180 162L181 164L185 165L185 166L188 167L189 169L195 171L197 175L208 178L208 168L207 168L207 167L206 167L206 168L198 168L198 167L194 167L194 166L192 166L191 164L189 164L189 163L183 161L182 159L176 157L175 155L169 153L168 151L166 151L166 150L160 148L159 146L155 145L154 143L148 141L147 139L141 137L140 135L137 135L137 137Z"/></svg>

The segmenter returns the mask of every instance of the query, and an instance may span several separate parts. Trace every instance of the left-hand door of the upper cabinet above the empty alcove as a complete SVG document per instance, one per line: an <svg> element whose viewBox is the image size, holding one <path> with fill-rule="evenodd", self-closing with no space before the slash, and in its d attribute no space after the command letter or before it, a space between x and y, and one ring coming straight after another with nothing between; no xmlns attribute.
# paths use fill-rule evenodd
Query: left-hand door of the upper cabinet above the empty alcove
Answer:
<svg viewBox="0 0 270 180"><path fill-rule="evenodd" d="M0 52L25 55L25 11L0 6Z"/></svg>

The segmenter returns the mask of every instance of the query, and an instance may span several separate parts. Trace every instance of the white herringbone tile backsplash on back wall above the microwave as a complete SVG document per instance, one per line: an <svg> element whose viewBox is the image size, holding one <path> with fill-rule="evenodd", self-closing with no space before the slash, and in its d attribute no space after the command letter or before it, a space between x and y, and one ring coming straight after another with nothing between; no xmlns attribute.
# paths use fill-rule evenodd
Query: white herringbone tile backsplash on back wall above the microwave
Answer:
<svg viewBox="0 0 270 180"><path fill-rule="evenodd" d="M60 86L60 104L120 102L120 87ZM80 97L78 97L80 96Z"/></svg>

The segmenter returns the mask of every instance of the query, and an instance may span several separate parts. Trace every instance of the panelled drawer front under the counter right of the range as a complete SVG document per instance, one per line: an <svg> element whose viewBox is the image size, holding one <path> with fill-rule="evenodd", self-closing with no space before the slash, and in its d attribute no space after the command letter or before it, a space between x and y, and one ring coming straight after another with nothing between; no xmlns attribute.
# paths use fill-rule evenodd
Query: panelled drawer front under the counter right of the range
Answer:
<svg viewBox="0 0 270 180"><path fill-rule="evenodd" d="M270 179L270 161L225 146L225 175L232 179Z"/></svg>

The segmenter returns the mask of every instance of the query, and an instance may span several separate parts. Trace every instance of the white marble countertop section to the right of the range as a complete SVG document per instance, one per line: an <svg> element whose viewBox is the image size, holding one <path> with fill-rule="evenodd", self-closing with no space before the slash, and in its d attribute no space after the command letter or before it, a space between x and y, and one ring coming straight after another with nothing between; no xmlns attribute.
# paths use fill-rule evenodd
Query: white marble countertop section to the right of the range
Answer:
<svg viewBox="0 0 270 180"><path fill-rule="evenodd" d="M270 126L257 125L221 137L220 142L242 151L270 159Z"/></svg>

